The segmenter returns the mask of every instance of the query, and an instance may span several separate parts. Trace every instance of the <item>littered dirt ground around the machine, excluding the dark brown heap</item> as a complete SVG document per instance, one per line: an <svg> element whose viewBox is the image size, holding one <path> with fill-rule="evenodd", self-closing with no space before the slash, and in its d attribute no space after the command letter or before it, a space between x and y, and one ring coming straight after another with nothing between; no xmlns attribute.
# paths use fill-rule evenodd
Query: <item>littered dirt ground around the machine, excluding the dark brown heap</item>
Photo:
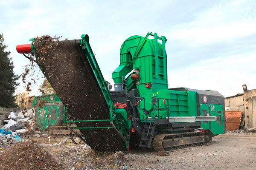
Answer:
<svg viewBox="0 0 256 170"><path fill-rule="evenodd" d="M121 154L124 156L122 161L116 153L95 153L92 156L90 150L83 150L82 147L48 150L67 170L256 169L256 133L228 132L214 137L211 145L176 150L169 156L157 156L154 150L131 150Z"/></svg>

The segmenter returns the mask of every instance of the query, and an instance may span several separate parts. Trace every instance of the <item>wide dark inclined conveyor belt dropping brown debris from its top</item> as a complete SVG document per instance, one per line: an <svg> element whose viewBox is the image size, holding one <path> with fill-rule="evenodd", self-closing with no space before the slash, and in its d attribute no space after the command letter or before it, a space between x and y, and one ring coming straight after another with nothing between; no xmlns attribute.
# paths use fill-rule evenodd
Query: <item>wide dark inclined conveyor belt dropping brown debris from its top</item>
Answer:
<svg viewBox="0 0 256 170"><path fill-rule="evenodd" d="M37 63L73 120L109 119L109 108L80 40L33 42ZM111 127L110 122L76 122L77 127ZM81 129L95 150L126 150L114 128Z"/></svg>

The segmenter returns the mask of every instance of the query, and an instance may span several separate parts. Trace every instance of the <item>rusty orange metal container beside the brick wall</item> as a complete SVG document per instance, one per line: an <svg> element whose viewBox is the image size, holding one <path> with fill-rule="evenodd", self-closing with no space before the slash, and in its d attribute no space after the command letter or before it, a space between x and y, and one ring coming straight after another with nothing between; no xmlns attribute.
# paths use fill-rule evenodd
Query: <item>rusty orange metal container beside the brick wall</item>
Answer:
<svg viewBox="0 0 256 170"><path fill-rule="evenodd" d="M242 118L242 111L226 111L226 128L227 130L239 129Z"/></svg>

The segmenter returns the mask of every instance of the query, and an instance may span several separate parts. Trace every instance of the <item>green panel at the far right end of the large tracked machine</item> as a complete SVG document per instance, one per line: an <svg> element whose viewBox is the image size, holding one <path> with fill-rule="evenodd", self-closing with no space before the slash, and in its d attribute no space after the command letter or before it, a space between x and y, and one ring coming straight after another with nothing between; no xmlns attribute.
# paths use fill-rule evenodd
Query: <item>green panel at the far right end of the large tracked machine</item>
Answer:
<svg viewBox="0 0 256 170"><path fill-rule="evenodd" d="M211 122L211 131L214 135L223 134L225 132L222 112L222 105L210 105L210 116L217 116L217 121Z"/></svg>

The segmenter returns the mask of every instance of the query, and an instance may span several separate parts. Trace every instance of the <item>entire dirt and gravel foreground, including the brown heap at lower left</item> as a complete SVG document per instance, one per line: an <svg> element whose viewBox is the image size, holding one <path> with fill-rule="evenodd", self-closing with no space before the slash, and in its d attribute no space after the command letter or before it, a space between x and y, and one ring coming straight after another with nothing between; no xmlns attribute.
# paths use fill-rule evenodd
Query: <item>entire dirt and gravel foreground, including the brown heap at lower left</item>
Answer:
<svg viewBox="0 0 256 170"><path fill-rule="evenodd" d="M0 169L34 170L255 170L256 133L216 136L212 144L157 156L154 150L97 152L87 145L39 147L18 142L0 150ZM158 154L159 155L159 154Z"/></svg>

